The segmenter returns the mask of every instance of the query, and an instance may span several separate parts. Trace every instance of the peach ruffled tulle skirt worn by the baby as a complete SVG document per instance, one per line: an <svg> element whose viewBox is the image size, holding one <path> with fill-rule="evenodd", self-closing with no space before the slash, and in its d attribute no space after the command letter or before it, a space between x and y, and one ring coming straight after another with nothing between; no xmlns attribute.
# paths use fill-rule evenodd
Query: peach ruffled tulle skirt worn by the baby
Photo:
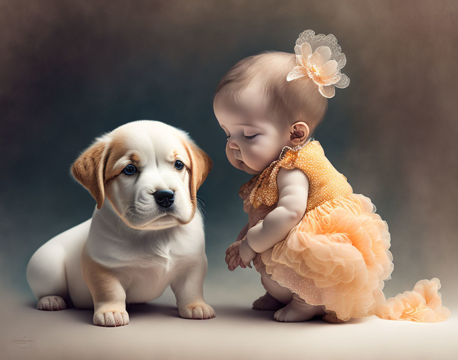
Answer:
<svg viewBox="0 0 458 360"><path fill-rule="evenodd" d="M263 252L266 271L337 318L374 314L393 271L390 233L368 197L349 194L307 212L287 238Z"/></svg>

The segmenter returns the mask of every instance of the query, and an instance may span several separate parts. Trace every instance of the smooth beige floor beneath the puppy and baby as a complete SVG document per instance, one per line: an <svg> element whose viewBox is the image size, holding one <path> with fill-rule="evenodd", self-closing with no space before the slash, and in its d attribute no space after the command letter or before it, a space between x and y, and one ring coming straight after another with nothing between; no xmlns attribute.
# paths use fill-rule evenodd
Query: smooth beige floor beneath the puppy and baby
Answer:
<svg viewBox="0 0 458 360"><path fill-rule="evenodd" d="M89 310L38 311L27 296L2 294L0 359L458 358L458 311L438 324L375 317L284 324L272 321L272 311L251 310L234 301L235 291L223 289L207 296L215 319L180 319L167 290L154 303L130 307L130 324L120 328L91 325ZM247 291L259 294L260 288Z"/></svg>

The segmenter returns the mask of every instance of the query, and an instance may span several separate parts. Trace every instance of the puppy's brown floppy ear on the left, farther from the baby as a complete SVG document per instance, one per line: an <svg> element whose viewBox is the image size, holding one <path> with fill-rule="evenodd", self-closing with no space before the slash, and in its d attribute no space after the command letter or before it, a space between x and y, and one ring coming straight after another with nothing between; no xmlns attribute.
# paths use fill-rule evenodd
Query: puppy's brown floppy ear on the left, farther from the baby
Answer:
<svg viewBox="0 0 458 360"><path fill-rule="evenodd" d="M72 165L72 175L89 190L100 209L105 199L105 168L108 160L108 144L104 140L96 142L84 150Z"/></svg>

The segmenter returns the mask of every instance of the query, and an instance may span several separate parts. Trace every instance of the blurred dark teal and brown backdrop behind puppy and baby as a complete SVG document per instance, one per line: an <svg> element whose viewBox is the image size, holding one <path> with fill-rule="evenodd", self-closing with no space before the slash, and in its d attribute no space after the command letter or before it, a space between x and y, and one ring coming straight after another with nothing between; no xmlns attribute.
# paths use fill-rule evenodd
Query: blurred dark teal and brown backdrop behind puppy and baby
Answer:
<svg viewBox="0 0 458 360"><path fill-rule="evenodd" d="M263 50L293 52L306 29L334 34L351 79L315 139L354 192L390 226L395 269L385 295L438 277L457 303L456 1L0 1L2 297L34 302L27 263L89 218L95 200L70 166L95 137L132 120L189 131L214 161L204 201L205 297L247 307L264 294L224 251L247 216L250 175L225 158L212 99L222 75Z"/></svg>

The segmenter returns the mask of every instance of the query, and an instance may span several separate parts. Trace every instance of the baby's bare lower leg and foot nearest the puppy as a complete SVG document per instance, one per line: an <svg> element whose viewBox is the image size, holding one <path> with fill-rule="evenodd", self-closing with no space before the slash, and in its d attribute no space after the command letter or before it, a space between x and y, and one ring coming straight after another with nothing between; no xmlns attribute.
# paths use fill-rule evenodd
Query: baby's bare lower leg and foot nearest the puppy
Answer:
<svg viewBox="0 0 458 360"><path fill-rule="evenodd" d="M261 283L267 292L253 303L253 308L278 310L288 304L292 299L292 292L277 281L272 280L271 275L267 274L265 270L265 265L260 266L258 271L261 274Z"/></svg>

